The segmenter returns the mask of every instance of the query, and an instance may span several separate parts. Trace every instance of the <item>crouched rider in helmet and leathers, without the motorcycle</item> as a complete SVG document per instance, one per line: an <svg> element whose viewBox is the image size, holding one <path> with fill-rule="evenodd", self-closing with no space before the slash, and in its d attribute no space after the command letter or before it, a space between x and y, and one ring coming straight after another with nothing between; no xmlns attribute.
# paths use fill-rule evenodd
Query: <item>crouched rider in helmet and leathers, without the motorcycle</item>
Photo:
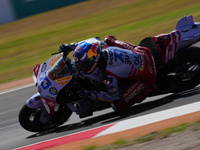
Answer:
<svg viewBox="0 0 200 150"><path fill-rule="evenodd" d="M69 45L64 44L59 48L67 49ZM104 41L96 37L72 43L70 49L74 49L73 57L81 74L91 83L106 85L108 92L92 92L95 98L110 102L115 111L126 110L156 90L156 65L149 48L106 36ZM131 83L120 91L118 81L123 79L131 79ZM88 95L88 91L84 92L82 95Z"/></svg>

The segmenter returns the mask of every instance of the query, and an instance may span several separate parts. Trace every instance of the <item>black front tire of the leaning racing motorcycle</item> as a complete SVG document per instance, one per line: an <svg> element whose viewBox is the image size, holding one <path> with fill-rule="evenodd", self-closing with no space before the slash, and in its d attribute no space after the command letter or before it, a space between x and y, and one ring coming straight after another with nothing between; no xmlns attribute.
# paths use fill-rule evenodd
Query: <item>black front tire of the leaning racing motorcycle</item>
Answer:
<svg viewBox="0 0 200 150"><path fill-rule="evenodd" d="M60 106L58 111L52 115L49 123L42 124L39 119L41 112L41 110L29 108L25 104L19 113L18 119L20 125L30 132L43 132L60 126L72 114L72 111L68 107ZM32 116L33 114L34 117ZM33 117L32 119L30 118L31 116Z"/></svg>

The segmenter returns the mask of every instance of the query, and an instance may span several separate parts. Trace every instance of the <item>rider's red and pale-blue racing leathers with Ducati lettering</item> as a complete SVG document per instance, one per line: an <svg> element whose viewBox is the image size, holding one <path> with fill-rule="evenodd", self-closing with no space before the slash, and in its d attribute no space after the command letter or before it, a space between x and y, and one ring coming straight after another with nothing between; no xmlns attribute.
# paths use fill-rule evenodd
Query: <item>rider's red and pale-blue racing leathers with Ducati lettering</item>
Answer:
<svg viewBox="0 0 200 150"><path fill-rule="evenodd" d="M96 42L98 38L85 40ZM119 41L106 36L101 50L100 62L90 74L83 74L92 83L104 83L108 92L93 91L98 100L112 103L116 111L124 110L144 100L156 80L156 67L152 51L146 47ZM75 58L76 59L76 58ZM128 87L119 91L118 81L131 79ZM152 88L153 87L153 88Z"/></svg>

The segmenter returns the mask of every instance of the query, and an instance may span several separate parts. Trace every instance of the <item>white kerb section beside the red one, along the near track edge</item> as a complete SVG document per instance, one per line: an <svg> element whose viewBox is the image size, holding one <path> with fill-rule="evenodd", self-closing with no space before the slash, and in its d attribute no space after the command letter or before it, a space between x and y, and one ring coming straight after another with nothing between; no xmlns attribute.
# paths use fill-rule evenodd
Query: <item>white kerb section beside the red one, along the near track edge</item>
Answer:
<svg viewBox="0 0 200 150"><path fill-rule="evenodd" d="M174 117L183 116L183 115L194 113L197 111L200 111L200 102L195 102L192 104L171 108L171 109L159 111L156 113L151 113L148 115L131 118L131 119L116 123L112 127L102 131L101 133L97 134L93 138L148 125L151 123L155 123L158 121L162 121L162 120L166 120L166 119L170 119Z"/></svg>

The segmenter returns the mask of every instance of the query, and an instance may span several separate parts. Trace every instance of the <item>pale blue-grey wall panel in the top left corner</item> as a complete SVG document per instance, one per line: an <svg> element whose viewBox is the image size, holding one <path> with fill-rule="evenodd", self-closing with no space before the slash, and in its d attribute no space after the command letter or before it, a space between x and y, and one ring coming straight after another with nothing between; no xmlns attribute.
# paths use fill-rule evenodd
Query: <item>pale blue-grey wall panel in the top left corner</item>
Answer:
<svg viewBox="0 0 200 150"><path fill-rule="evenodd" d="M0 0L0 24L16 19L10 0Z"/></svg>

